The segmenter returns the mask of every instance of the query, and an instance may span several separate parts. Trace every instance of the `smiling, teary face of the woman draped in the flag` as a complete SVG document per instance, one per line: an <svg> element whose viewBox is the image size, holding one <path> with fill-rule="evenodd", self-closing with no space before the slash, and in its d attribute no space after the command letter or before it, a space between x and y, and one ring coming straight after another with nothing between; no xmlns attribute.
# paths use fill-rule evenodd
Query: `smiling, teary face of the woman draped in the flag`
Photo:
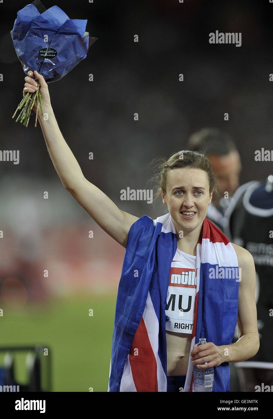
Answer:
<svg viewBox="0 0 273 419"><path fill-rule="evenodd" d="M167 174L166 195L161 191L163 204L168 206L176 230L194 231L202 227L212 194L209 178L202 169L175 168ZM184 212L194 214L186 215Z"/></svg>

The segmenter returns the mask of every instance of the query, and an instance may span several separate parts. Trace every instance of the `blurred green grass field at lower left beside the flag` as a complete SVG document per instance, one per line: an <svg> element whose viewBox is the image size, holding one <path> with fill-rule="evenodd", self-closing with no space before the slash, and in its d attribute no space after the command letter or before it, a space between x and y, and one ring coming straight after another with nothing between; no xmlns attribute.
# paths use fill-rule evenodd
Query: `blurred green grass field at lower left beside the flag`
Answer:
<svg viewBox="0 0 273 419"><path fill-rule="evenodd" d="M16 310L1 303L0 345L48 345L52 391L107 391L115 302L116 295L79 295ZM26 353L15 355L20 383L27 379L25 360Z"/></svg>

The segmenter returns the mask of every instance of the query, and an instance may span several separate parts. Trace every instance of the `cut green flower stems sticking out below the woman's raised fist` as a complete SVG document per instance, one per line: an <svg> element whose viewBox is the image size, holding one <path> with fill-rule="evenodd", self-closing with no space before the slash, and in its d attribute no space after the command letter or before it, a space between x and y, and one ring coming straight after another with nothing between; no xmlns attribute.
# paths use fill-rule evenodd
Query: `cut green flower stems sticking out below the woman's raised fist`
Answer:
<svg viewBox="0 0 273 419"><path fill-rule="evenodd" d="M38 82L38 90L34 93L27 93L25 97L20 101L19 105L17 106L17 109L15 113L13 114L13 118L15 117L17 111L20 109L20 114L18 118L16 119L16 122L20 120L20 122L25 125L25 127L28 126L28 122L31 116L32 108L35 104L36 106L36 118L35 118L35 125L37 126L37 116L38 116L38 105L40 106L41 114L43 115L43 107L42 107L42 98L40 93L40 83Z"/></svg>

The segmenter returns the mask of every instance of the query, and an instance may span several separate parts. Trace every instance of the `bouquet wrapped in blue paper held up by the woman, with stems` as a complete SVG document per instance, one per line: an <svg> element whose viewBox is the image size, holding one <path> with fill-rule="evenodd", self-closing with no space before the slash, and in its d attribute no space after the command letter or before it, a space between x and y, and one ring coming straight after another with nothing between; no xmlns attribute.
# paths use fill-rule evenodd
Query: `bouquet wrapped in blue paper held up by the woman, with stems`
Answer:
<svg viewBox="0 0 273 419"><path fill-rule="evenodd" d="M29 70L33 71L33 74L36 70L46 83L64 77L87 56L90 45L97 40L85 31L86 24L87 20L69 19L58 6L46 10L40 0L35 0L19 10L10 34L26 75ZM37 81L36 78L34 80ZM43 115L39 88L40 83L38 90L35 93L28 92L15 111L16 114L20 109L16 122L20 121L26 127L34 103L35 127L38 103Z"/></svg>

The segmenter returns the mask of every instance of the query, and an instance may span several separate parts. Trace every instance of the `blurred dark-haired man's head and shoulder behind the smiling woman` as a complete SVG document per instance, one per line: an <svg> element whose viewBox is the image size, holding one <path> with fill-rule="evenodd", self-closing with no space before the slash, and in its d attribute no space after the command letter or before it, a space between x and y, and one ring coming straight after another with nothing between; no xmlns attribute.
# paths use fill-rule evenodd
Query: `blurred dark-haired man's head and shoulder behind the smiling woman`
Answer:
<svg viewBox="0 0 273 419"><path fill-rule="evenodd" d="M206 153L219 182L219 197L214 196L209 205L207 218L221 231L225 223L225 211L239 186L242 168L240 155L229 134L216 128L203 128L192 134L188 147Z"/></svg>

